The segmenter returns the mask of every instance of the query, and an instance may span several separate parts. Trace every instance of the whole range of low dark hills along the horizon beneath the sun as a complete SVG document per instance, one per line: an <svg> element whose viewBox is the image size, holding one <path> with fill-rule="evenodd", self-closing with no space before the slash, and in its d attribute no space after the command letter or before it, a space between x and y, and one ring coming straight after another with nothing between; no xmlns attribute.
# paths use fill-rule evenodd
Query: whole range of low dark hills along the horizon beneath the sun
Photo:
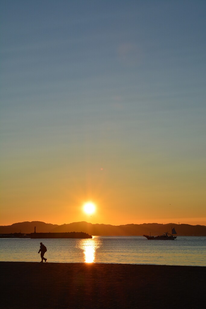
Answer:
<svg viewBox="0 0 206 309"><path fill-rule="evenodd" d="M51 224L40 221L19 222L8 226L0 226L0 233L31 233L34 232L85 232L89 235L113 235L113 236L130 236L130 235L160 235L164 232L171 232L171 227L174 227L177 236L206 236L206 226L190 225L190 224L159 224L159 223L143 223L143 224L125 224L125 225L110 225L110 224L92 224L85 221L73 222L69 224Z"/></svg>

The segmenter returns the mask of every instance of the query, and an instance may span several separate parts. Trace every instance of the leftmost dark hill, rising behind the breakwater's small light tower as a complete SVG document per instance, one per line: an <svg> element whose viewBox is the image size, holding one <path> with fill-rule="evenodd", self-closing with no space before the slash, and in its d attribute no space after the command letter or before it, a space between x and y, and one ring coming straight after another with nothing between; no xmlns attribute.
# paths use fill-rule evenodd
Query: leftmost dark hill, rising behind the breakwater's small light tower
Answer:
<svg viewBox="0 0 206 309"><path fill-rule="evenodd" d="M41 221L32 222L19 222L12 225L0 226L0 233L33 233L34 226L36 226L36 232L48 233L53 228L58 226L57 224L45 223Z"/></svg>

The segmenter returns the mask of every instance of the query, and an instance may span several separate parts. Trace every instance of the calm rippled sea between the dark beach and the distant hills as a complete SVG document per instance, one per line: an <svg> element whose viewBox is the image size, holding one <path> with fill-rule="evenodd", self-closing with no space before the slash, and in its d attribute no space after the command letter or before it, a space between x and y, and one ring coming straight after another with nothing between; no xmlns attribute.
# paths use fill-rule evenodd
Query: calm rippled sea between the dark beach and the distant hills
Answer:
<svg viewBox="0 0 206 309"><path fill-rule="evenodd" d="M0 239L0 261L38 262L40 241L48 262L206 266L206 237L174 241L142 236L93 236L93 239Z"/></svg>

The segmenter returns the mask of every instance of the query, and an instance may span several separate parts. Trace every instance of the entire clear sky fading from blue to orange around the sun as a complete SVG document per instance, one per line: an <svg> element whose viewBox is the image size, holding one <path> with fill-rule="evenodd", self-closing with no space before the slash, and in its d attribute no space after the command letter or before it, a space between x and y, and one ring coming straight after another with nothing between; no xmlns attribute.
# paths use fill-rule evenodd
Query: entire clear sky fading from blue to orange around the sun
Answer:
<svg viewBox="0 0 206 309"><path fill-rule="evenodd" d="M1 1L0 225L206 225L205 9Z"/></svg>

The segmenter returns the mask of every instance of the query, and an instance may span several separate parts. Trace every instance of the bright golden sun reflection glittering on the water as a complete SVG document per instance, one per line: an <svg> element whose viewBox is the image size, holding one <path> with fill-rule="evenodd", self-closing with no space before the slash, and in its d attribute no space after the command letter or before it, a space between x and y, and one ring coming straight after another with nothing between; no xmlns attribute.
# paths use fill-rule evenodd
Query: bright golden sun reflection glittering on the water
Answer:
<svg viewBox="0 0 206 309"><path fill-rule="evenodd" d="M79 248L84 252L85 263L94 263L96 250L101 246L101 241L95 239L82 239L79 243Z"/></svg>

